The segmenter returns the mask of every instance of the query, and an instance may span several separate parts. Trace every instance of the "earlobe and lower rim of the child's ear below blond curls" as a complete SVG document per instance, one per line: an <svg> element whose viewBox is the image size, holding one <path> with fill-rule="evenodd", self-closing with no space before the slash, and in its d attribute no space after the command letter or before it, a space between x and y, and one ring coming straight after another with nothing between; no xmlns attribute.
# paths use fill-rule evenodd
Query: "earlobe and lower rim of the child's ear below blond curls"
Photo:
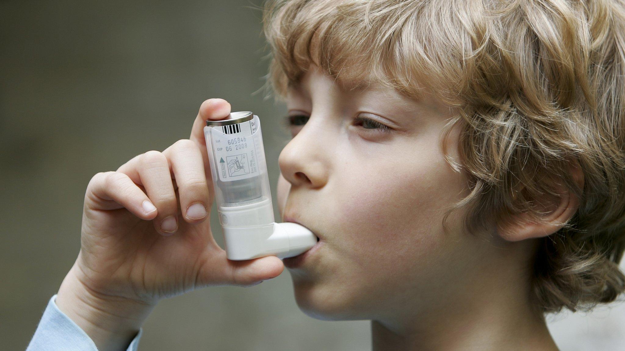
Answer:
<svg viewBox="0 0 625 351"><path fill-rule="evenodd" d="M560 230L568 222L579 208L577 196L564 190L560 193L559 204L551 206L541 220L534 219L530 214L524 213L514 217L509 223L499 225L497 231L502 239L507 241L520 241L546 237Z"/></svg>

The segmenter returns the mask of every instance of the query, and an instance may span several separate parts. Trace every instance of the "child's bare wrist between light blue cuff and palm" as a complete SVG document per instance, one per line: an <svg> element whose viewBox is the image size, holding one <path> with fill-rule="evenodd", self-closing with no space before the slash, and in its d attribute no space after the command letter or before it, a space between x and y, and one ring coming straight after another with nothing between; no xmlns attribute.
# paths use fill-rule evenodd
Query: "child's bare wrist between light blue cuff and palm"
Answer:
<svg viewBox="0 0 625 351"><path fill-rule="evenodd" d="M98 350L125 350L155 305L100 294L83 284L78 271L76 264L69 270L56 305L89 335Z"/></svg>

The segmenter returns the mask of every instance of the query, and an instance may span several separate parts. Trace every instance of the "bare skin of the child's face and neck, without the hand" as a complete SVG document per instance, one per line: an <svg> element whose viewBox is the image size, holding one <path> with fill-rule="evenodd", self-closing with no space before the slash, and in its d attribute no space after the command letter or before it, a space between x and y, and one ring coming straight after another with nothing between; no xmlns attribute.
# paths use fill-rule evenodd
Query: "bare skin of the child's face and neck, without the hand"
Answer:
<svg viewBox="0 0 625 351"><path fill-rule="evenodd" d="M287 107L308 118L291 127L280 154L279 205L322 242L289 269L304 313L371 319L374 350L556 349L532 309L535 242L524 239L559 226L526 220L501 228L505 239L471 235L459 211L443 230L468 189L439 144L452 109L431 96L341 91L316 67L289 90ZM394 129L366 129L353 121L359 114ZM457 130L448 141L457 157ZM556 222L574 213L569 203L556 207Z"/></svg>

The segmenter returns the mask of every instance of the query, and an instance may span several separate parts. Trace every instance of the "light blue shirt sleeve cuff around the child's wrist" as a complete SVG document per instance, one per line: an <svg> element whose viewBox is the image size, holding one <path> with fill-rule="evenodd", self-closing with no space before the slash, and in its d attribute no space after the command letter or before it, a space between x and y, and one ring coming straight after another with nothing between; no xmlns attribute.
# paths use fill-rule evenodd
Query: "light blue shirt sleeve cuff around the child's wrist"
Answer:
<svg viewBox="0 0 625 351"><path fill-rule="evenodd" d="M59 310L55 300L56 295L47 303L26 351L98 351L89 335ZM141 334L143 329L139 329L126 351L137 351Z"/></svg>

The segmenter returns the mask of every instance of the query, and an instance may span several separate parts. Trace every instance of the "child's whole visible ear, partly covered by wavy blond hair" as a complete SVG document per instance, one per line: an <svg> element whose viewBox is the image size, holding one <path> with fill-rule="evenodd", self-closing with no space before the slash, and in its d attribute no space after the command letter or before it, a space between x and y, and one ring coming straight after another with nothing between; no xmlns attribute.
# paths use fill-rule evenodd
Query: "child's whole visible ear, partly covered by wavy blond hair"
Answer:
<svg viewBox="0 0 625 351"><path fill-rule="evenodd" d="M579 165L571 167L573 177L580 189L584 187L584 175ZM579 209L577 196L562 185L555 186L559 194L556 199L542 200L541 220L537 221L527 213L519 214L497 226L497 232L507 241L520 241L546 237L560 230Z"/></svg>

